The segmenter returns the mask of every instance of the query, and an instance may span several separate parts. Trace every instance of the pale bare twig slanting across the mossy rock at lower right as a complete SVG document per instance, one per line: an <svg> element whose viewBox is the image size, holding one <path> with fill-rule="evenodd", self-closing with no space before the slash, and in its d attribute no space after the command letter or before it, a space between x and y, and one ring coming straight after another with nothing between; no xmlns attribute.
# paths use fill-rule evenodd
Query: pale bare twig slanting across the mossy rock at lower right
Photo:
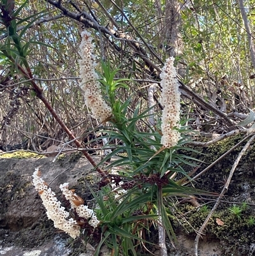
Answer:
<svg viewBox="0 0 255 256"><path fill-rule="evenodd" d="M241 160L242 156L244 155L245 151L248 149L248 147L251 145L251 143L254 141L254 139L255 139L255 135L252 135L251 139L249 139L249 141L245 144L245 146L242 149L242 151L238 154L237 159L235 160L235 163L233 164L233 166L232 166L232 168L230 170L230 175L228 176L228 180L226 181L226 184L224 185L224 188L222 189L222 192L219 195L219 198L217 199L217 201L215 202L214 207L212 208L212 210L208 214L205 222L200 227L200 230L199 230L200 233L202 233L203 230L205 229L205 227L207 227L208 221L212 217L212 214L214 213L214 211L219 206L219 203L221 202L221 199L222 199L224 193L226 193L226 191L228 190L228 186L230 185L230 181L231 181L231 179L233 177L233 174L235 172L235 169L237 168L238 163L240 162L240 160ZM194 241L194 256L198 256L198 242L199 242L199 240L200 240L200 235L197 234L196 239Z"/></svg>

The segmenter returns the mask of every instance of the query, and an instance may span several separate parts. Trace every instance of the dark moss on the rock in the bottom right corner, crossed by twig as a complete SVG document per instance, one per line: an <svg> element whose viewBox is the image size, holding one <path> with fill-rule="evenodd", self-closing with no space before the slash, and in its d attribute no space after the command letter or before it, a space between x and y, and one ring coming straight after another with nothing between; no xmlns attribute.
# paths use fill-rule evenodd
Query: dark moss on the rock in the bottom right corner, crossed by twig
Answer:
<svg viewBox="0 0 255 256"><path fill-rule="evenodd" d="M199 208L194 208L188 204L179 206L179 211L182 218L179 221L174 221L173 226L177 228L180 227L192 236L196 236L196 230L199 230L205 219L207 218L208 212L200 211ZM219 218L223 225L218 225L216 218ZM234 255L248 255L249 246L254 243L254 237L252 233L254 232L254 226L249 225L249 220L251 216L248 216L245 211L240 218L230 213L228 208L215 211L212 218L207 224L206 230L203 233L207 237L217 238L221 240L222 250L224 248L231 248L232 253L237 253L242 248L242 253L244 254L234 254ZM224 255L231 255L225 252Z"/></svg>

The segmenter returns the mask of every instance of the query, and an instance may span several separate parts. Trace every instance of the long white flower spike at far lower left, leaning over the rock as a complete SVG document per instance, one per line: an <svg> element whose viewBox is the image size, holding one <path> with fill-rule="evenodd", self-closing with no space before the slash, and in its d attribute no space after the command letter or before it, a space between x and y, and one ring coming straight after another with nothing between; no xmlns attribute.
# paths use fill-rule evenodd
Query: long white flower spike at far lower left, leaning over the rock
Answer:
<svg viewBox="0 0 255 256"><path fill-rule="evenodd" d="M43 206L47 209L48 218L54 221L54 227L64 230L73 238L79 236L80 227L73 218L69 218L69 213L65 211L64 207L61 207L61 202L57 200L55 193L41 179L39 169L36 169L33 174L33 184L43 200Z"/></svg>

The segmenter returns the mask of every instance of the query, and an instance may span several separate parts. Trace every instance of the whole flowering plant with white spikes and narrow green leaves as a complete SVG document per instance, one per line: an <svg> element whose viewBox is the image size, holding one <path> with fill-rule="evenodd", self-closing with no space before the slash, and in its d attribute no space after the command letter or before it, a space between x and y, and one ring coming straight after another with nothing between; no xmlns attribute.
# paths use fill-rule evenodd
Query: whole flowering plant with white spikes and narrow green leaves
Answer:
<svg viewBox="0 0 255 256"><path fill-rule="evenodd" d="M180 122L180 92L173 66L174 59L166 60L161 73L160 103L163 105L163 113L161 121L156 121L161 123L160 130L150 126L148 122L152 115L150 110L155 106L141 111L138 104L133 110L129 107L131 96L126 101L120 100L119 89L129 91L124 82L130 80L114 79L118 69L112 71L110 63L102 63L103 73L99 80L95 71L93 49L91 34L83 32L79 62L80 87L92 116L100 119L101 123L108 122L103 139L108 139L105 147L112 149L98 166L112 156L118 156L118 159L107 165L105 174L99 181L99 191L91 190L99 206L95 212L84 206L83 200L68 189L67 183L61 184L61 191L69 200L75 216L82 218L82 223L85 224L82 228L90 227L88 234L101 228L102 239L96 255L103 243L113 248L112 255L136 255L135 245L145 247L149 243L145 239L145 233L149 232L152 225L156 225L161 255L164 256L165 232L172 242L175 239L170 222L174 216L169 202L165 204L164 200L177 195L202 193L182 186L174 179L178 172L186 175L182 169L183 163L196 165L194 158L180 153L182 149L189 150L184 145L189 141L187 132L190 131ZM141 124L143 131L140 129ZM121 140L122 144L112 147L110 142L115 139ZM187 160L192 160L193 163ZM68 212L61 207L55 193L41 179L38 170L33 177L48 218L54 221L55 227L64 230L71 237L77 237L81 227L80 220L69 218Z"/></svg>

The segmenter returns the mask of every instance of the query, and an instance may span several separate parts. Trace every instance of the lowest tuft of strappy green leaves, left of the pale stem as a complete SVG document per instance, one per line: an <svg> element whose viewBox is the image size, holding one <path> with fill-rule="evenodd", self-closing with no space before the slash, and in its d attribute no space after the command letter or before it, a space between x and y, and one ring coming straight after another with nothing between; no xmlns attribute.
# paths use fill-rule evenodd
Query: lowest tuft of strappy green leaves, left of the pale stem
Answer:
<svg viewBox="0 0 255 256"><path fill-rule="evenodd" d="M153 222L157 218L157 215L152 213L144 214L144 211L148 211L146 208L150 194L140 195L136 189L116 199L115 193L117 192L112 192L106 187L102 188L98 195L92 192L99 205L98 219L102 222L101 229L103 232L107 230L104 232L104 241L113 249L114 255L119 255L120 252L123 255L136 255L136 241L149 243L139 236L140 230L146 229L147 219ZM99 248L100 245L97 253Z"/></svg>

